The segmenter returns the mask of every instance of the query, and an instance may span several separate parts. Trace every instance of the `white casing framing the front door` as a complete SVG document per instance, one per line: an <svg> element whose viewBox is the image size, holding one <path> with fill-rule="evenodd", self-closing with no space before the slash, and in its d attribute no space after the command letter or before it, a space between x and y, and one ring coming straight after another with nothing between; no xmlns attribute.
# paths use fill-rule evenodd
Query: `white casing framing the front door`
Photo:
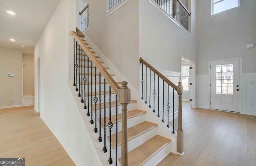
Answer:
<svg viewBox="0 0 256 166"><path fill-rule="evenodd" d="M240 102L240 112L239 113L242 113L242 108L243 108L243 99L242 99L242 83L243 83L243 77L242 77L242 57L236 57L236 58L229 58L229 59L218 59L218 60L213 60L213 61L208 61L208 80L209 80L209 94L208 94L208 99L210 100L209 103L211 102L211 87L210 87L210 84L211 84L211 69L210 69L210 65L211 65L211 62L218 62L218 61L229 61L229 60L235 60L235 59L239 59L240 63L239 63L239 66L240 66L240 94L239 94L239 102ZM211 103L210 103L210 109L211 109ZM212 109L212 110L215 110L215 109ZM219 111L224 111L224 110L219 110ZM230 111L228 111L230 112ZM235 113L235 112L234 112Z"/></svg>

